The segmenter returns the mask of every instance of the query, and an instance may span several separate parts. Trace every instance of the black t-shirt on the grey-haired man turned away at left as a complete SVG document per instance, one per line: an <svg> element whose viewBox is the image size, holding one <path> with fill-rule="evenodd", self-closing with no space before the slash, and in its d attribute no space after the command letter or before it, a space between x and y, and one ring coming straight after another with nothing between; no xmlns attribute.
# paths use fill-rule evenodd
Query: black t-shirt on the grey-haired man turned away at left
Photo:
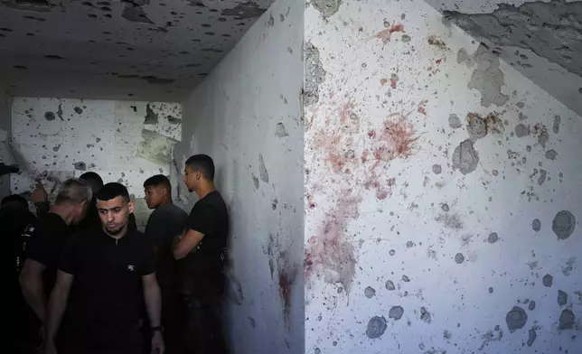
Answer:
<svg viewBox="0 0 582 354"><path fill-rule="evenodd" d="M46 267L43 278L47 296L54 286L61 250L69 236L67 223L52 212L41 215L23 231L24 256Z"/></svg>

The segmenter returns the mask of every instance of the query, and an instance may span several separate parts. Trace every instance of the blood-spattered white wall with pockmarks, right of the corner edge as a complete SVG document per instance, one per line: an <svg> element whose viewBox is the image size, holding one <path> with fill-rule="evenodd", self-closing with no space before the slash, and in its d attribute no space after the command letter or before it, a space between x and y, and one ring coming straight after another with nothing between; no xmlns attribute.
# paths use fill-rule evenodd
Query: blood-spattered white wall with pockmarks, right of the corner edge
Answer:
<svg viewBox="0 0 582 354"><path fill-rule="evenodd" d="M305 28L305 352L581 352L581 117L424 2Z"/></svg>

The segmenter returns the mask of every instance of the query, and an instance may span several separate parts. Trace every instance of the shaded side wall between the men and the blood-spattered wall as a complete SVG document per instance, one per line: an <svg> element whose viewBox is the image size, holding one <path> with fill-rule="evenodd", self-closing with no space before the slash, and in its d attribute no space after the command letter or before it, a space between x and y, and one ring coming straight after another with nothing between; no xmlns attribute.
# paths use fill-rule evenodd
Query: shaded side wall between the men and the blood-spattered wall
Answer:
<svg viewBox="0 0 582 354"><path fill-rule="evenodd" d="M183 104L175 178L190 155L210 154L230 210L234 353L304 349L303 7L269 8ZM192 194L180 190L188 208Z"/></svg>

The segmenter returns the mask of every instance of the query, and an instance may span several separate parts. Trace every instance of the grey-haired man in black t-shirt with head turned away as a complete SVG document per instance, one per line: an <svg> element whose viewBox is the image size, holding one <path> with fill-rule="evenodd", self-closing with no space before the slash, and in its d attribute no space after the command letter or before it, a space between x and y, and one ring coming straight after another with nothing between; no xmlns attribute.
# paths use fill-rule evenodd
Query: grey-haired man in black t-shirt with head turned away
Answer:
<svg viewBox="0 0 582 354"><path fill-rule="evenodd" d="M21 237L25 261L20 273L24 300L44 321L48 294L56 278L61 249L70 235L70 227L85 217L91 200L87 182L70 179L64 182L49 212L26 227Z"/></svg>

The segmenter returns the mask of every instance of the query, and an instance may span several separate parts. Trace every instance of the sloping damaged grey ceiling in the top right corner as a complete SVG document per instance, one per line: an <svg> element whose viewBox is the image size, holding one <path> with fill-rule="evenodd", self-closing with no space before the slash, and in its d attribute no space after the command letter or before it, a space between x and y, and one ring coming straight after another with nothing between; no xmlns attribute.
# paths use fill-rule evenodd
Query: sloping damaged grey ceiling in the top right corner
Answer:
<svg viewBox="0 0 582 354"><path fill-rule="evenodd" d="M580 0L426 0L582 116Z"/></svg>

